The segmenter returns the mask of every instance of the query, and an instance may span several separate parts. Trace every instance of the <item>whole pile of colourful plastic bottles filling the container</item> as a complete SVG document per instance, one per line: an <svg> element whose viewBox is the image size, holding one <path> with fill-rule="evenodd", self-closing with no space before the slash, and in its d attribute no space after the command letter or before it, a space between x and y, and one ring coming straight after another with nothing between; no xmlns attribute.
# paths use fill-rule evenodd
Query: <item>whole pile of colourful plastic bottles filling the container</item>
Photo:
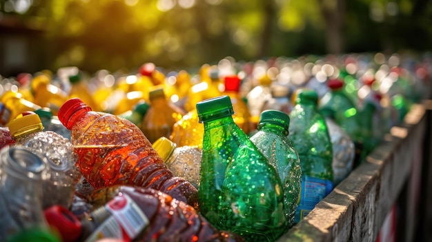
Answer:
<svg viewBox="0 0 432 242"><path fill-rule="evenodd" d="M0 77L0 240L275 241L431 74L376 53Z"/></svg>

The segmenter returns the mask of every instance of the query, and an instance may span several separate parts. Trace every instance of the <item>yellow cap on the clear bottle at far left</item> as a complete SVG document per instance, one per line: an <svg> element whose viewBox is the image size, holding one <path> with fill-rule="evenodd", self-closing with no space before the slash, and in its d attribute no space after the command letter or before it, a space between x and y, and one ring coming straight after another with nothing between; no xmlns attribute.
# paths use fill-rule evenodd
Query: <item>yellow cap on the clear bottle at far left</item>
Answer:
<svg viewBox="0 0 432 242"><path fill-rule="evenodd" d="M8 128L12 138L18 139L24 135L42 131L43 125L37 114L28 114L26 116L19 114L16 119L9 122Z"/></svg>

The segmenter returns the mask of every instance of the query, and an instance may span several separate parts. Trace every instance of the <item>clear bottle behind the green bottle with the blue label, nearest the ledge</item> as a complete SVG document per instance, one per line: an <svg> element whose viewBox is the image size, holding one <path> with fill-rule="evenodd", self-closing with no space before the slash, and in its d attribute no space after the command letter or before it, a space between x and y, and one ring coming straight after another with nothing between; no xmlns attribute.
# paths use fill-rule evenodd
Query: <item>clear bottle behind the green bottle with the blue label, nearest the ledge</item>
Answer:
<svg viewBox="0 0 432 242"><path fill-rule="evenodd" d="M355 145L351 137L335 122L335 112L322 108L320 113L326 119L328 134L333 148L333 187L348 177L354 167Z"/></svg>

